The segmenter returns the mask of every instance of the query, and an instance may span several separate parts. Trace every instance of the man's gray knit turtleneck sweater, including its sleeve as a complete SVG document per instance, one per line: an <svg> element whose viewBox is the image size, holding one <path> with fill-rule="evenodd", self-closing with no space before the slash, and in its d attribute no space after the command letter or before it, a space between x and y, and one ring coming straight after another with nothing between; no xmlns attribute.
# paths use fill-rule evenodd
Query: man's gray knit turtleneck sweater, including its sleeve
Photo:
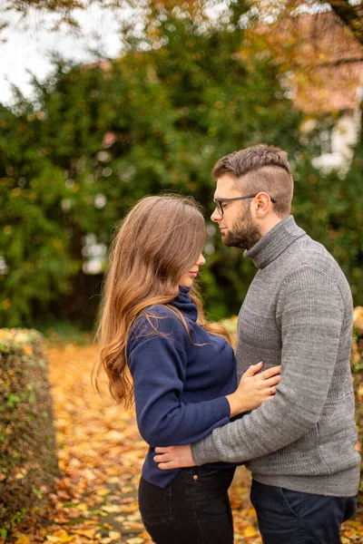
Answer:
<svg viewBox="0 0 363 544"><path fill-rule="evenodd" d="M352 301L336 261L283 219L249 251L259 271L240 308L239 377L281 364L278 393L192 445L197 465L249 461L255 480L331 496L358 492L349 366Z"/></svg>

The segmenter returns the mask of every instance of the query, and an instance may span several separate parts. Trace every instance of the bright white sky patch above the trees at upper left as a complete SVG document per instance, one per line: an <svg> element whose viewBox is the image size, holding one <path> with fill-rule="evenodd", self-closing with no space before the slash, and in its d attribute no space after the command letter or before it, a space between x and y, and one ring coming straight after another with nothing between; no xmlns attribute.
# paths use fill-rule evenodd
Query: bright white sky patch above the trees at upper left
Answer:
<svg viewBox="0 0 363 544"><path fill-rule="evenodd" d="M0 102L10 105L12 93L10 84L15 83L25 96L31 95L29 81L30 71L42 80L50 73L52 64L50 53L60 53L62 58L74 59L79 62L90 62L94 59L88 50L102 50L105 56L117 56L120 53L121 41L117 34L118 24L114 14L101 10L97 6L90 7L86 13L74 12L80 22L82 34L73 36L65 27L59 32L51 32L45 28L50 26L51 16L44 17L40 24L35 13L28 16L25 24L15 12L1 14L1 19L10 23L9 27L0 34ZM96 37L96 34L99 37Z"/></svg>

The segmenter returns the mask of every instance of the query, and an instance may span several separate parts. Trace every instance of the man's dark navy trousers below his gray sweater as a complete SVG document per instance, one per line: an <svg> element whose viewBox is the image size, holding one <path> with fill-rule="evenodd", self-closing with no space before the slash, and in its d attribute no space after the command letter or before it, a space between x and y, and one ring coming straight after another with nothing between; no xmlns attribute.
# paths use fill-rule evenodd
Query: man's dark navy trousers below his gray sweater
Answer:
<svg viewBox="0 0 363 544"><path fill-rule="evenodd" d="M357 510L355 497L326 497L252 481L264 544L339 544L340 526Z"/></svg>

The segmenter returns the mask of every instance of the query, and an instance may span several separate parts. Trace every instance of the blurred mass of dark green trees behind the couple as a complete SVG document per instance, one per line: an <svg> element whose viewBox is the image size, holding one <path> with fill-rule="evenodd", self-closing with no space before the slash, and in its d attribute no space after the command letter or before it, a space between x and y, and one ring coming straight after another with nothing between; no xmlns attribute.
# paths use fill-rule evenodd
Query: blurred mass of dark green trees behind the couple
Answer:
<svg viewBox="0 0 363 544"><path fill-rule="evenodd" d="M0 276L0 326L74 318L92 326L102 277L83 274L83 236L108 244L127 209L162 190L200 200L208 221L213 164L259 142L289 152L294 215L338 259L355 304L363 304L361 147L345 180L321 177L310 163L319 139L301 139L301 114L270 54L245 59L243 30L232 19L201 31L175 9L152 16L156 49L129 40L117 61L54 61L47 81L34 80L34 100L18 92L12 110L0 106L0 257L8 267ZM209 243L206 306L214 318L230 316L255 268L240 250L223 248L218 234Z"/></svg>

